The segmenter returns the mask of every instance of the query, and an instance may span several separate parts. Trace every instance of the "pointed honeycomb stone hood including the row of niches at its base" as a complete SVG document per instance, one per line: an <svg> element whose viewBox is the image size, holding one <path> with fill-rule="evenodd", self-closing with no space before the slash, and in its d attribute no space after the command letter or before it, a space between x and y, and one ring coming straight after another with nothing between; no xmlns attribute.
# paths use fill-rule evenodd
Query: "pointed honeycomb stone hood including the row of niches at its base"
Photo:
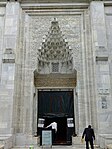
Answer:
<svg viewBox="0 0 112 149"><path fill-rule="evenodd" d="M51 22L48 34L43 38L42 44L37 53L39 71L41 71L42 68L45 70L45 67L48 65L48 67L50 67L52 64L55 64L52 65L55 70L58 70L58 66L61 68L64 66L66 70L72 70L72 49L68 45L67 39L62 34L56 18Z"/></svg>

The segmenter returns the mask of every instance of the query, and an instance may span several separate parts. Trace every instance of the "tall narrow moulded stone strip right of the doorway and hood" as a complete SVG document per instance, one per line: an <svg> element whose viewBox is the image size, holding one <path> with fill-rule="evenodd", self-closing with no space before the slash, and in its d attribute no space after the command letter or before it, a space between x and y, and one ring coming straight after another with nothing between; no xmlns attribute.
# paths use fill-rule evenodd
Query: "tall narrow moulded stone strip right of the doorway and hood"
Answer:
<svg viewBox="0 0 112 149"><path fill-rule="evenodd" d="M81 50L80 50L80 73L77 73L77 97L78 97L78 113L79 113L79 134L82 134L84 128L90 123L91 107L89 102L90 86L89 86L89 56L88 41L89 28L88 10L81 15ZM78 80L79 78L79 80Z"/></svg>

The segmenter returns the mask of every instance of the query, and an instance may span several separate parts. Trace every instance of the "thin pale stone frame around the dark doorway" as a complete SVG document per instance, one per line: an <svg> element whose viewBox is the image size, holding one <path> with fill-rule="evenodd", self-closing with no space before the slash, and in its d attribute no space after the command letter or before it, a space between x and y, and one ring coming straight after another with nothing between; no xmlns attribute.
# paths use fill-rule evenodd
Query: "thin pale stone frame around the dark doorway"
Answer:
<svg viewBox="0 0 112 149"><path fill-rule="evenodd" d="M76 135L78 134L78 130L79 130L79 118L78 118L78 97L77 97L77 93L76 93L76 88L35 88L35 96L34 96L34 101L33 101L33 109L35 109L33 111L33 122L32 122L32 126L33 126L33 134L37 134L37 129L38 129L38 92L39 91L73 91L73 103L74 103L74 131L76 133Z"/></svg>

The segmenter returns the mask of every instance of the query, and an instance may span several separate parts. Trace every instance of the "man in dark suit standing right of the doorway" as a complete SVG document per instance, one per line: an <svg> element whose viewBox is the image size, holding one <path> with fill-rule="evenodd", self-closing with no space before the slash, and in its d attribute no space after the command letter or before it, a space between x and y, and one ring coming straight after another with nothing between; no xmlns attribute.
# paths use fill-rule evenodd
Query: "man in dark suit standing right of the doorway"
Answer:
<svg viewBox="0 0 112 149"><path fill-rule="evenodd" d="M82 139L84 137L86 141L86 149L89 149L89 143L91 145L91 149L94 149L93 140L95 140L95 134L94 134L94 130L91 128L91 125L89 125L88 128L84 129Z"/></svg>

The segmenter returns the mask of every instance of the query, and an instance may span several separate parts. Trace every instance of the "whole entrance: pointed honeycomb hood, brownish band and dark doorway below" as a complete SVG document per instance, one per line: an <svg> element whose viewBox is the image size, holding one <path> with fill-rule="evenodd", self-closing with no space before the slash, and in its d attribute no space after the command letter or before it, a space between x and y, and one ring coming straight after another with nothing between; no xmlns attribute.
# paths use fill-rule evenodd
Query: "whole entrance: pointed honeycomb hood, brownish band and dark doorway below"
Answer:
<svg viewBox="0 0 112 149"><path fill-rule="evenodd" d="M52 122L57 123L53 144L70 144L75 133L73 90L77 72L73 50L63 35L56 18L51 22L47 36L38 49L38 68L34 71L34 85L38 91L38 134ZM55 88L58 91L45 91ZM58 89L59 88L59 89Z"/></svg>

